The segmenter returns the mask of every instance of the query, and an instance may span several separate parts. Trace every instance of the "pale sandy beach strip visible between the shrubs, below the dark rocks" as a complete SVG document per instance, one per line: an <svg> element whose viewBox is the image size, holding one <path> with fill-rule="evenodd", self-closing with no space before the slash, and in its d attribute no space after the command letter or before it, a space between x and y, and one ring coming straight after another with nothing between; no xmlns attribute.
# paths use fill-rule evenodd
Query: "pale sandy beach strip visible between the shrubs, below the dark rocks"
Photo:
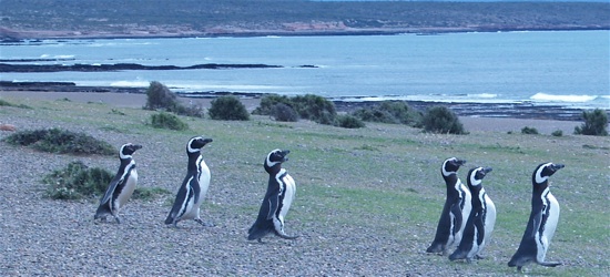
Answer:
<svg viewBox="0 0 610 277"><path fill-rule="evenodd" d="M114 93L114 92L49 92L49 91L0 91L1 98L19 98L26 100L63 100L68 99L73 102L88 103L96 102L104 103L116 107L139 109L146 103L145 94L138 93ZM199 104L203 107L210 106L212 99L186 99L180 98L185 103ZM242 103L248 111L258 106L260 99L243 98ZM537 119L511 119L511 117L479 117L479 116L460 116L460 122L468 132L520 132L525 126L535 127L541 134L550 134L557 130L561 130L563 134L571 134L576 126L582 124L578 121L557 121L557 120L537 120Z"/></svg>

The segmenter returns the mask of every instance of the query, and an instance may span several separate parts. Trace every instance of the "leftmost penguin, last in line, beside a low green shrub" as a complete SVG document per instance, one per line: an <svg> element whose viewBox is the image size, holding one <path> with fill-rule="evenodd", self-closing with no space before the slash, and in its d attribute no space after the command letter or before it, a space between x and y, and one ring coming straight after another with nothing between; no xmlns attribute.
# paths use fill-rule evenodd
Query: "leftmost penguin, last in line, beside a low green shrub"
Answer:
<svg viewBox="0 0 610 277"><path fill-rule="evenodd" d="M131 143L121 146L119 151L121 165L116 175L110 181L104 196L100 199L100 206L98 206L93 219L101 218L105 222L106 217L112 215L116 223L121 223L119 211L128 203L138 184L138 171L135 171L135 161L132 155L140 148L142 145Z"/></svg>

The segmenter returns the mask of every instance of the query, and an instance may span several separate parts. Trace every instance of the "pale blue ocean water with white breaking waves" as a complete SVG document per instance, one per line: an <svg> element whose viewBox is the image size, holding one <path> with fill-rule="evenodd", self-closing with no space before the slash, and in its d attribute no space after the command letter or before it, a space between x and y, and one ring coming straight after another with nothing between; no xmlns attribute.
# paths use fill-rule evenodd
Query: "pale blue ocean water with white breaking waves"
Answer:
<svg viewBox="0 0 610 277"><path fill-rule="evenodd" d="M282 66L2 72L2 81L142 88L159 81L184 93L313 93L354 101L531 102L610 109L610 31L44 40L1 44L0 59L14 64Z"/></svg>

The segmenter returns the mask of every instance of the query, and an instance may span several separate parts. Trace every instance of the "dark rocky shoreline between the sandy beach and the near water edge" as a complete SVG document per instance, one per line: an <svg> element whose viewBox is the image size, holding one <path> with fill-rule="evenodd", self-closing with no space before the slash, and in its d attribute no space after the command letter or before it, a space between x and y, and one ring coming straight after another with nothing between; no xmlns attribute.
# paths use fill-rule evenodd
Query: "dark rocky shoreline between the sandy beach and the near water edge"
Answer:
<svg viewBox="0 0 610 277"><path fill-rule="evenodd" d="M0 81L0 92L2 91L22 91L22 92L73 92L73 93L133 93L145 94L146 88L128 86L82 86L72 82L8 82ZM214 99L222 95L234 95L240 99L260 100L264 93L245 92L176 92L181 98L187 99ZM377 101L358 101L349 98L329 99L335 103L338 112L352 112L362 107L369 107L378 104ZM405 101L409 106L425 111L433 105L445 105L451 109L459 116L471 117L508 117L508 119L528 119L528 120L556 120L556 121L580 121L582 110L565 107L561 105L537 105L530 102L515 103L477 103L477 102L433 102L433 101Z"/></svg>

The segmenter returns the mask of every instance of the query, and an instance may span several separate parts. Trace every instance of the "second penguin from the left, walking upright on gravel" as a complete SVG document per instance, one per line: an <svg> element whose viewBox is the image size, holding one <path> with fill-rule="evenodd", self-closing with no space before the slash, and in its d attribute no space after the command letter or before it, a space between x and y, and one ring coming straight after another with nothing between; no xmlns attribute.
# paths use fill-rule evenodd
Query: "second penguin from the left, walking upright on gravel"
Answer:
<svg viewBox="0 0 610 277"><path fill-rule="evenodd" d="M186 155L189 156L186 176L176 193L174 205L165 218L165 224L173 224L177 228L179 222L194 219L206 226L200 217L200 206L210 187L211 175L210 168L201 155L201 148L211 142L212 138L194 136L186 143Z"/></svg>

